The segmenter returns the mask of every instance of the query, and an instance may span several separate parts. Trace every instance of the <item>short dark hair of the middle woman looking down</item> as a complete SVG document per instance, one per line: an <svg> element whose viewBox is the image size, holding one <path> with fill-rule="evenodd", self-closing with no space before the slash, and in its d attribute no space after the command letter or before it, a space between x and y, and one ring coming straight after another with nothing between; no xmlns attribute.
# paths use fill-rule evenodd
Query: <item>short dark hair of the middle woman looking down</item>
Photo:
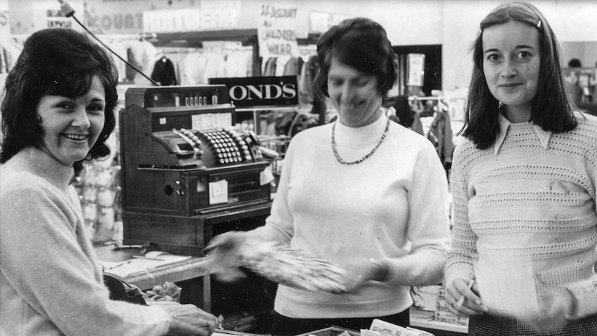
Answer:
<svg viewBox="0 0 597 336"><path fill-rule="evenodd" d="M390 107L393 101L388 92L398 78L398 60L386 30L377 22L364 17L346 19L330 28L317 41L319 72L314 87L320 98L329 97L328 73L332 58L359 71L377 77L377 90L383 96L382 105Z"/></svg>

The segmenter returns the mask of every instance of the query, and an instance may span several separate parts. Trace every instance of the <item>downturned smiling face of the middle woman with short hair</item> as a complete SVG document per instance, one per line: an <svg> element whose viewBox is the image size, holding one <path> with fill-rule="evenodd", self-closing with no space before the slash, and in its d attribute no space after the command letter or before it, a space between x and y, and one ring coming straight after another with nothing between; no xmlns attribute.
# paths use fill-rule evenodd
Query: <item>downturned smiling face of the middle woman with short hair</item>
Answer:
<svg viewBox="0 0 597 336"><path fill-rule="evenodd" d="M358 71L332 58L328 72L328 94L339 114L339 121L349 127L373 123L382 115L382 95L377 91L376 76Z"/></svg>

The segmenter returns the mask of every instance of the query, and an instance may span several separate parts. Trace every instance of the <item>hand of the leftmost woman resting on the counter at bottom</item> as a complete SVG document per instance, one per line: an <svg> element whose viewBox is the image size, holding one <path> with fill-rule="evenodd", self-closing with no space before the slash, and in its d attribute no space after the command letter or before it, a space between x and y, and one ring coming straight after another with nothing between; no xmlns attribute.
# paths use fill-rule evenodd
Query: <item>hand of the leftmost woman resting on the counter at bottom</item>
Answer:
<svg viewBox="0 0 597 336"><path fill-rule="evenodd" d="M199 335L210 336L217 327L215 316L195 305L181 305L172 301L154 301L152 306L159 306L166 310L172 322L168 335Z"/></svg>

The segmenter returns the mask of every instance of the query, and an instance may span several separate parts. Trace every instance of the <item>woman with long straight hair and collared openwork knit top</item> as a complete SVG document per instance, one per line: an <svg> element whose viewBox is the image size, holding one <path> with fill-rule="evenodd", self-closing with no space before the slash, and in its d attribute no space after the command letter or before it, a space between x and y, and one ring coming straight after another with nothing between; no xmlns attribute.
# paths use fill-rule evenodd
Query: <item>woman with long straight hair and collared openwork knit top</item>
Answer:
<svg viewBox="0 0 597 336"><path fill-rule="evenodd" d="M473 59L447 307L469 335L597 335L597 120L575 111L531 4L492 10Z"/></svg>

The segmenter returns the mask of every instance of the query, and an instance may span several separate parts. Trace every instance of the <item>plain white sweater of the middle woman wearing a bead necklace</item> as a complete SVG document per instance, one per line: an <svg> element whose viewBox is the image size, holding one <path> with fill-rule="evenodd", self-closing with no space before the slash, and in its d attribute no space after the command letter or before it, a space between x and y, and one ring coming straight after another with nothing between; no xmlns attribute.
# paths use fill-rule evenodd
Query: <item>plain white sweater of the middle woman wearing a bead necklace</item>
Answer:
<svg viewBox="0 0 597 336"><path fill-rule="evenodd" d="M341 158L364 157L380 141L387 120L382 116L359 128L336 123ZM371 157L341 164L332 152L332 125L294 136L271 215L252 234L343 266L359 257L388 258L389 274L348 294L279 285L274 309L292 318L401 312L412 304L409 285L438 284L443 276L449 247L445 171L433 145L398 123L389 124Z"/></svg>

